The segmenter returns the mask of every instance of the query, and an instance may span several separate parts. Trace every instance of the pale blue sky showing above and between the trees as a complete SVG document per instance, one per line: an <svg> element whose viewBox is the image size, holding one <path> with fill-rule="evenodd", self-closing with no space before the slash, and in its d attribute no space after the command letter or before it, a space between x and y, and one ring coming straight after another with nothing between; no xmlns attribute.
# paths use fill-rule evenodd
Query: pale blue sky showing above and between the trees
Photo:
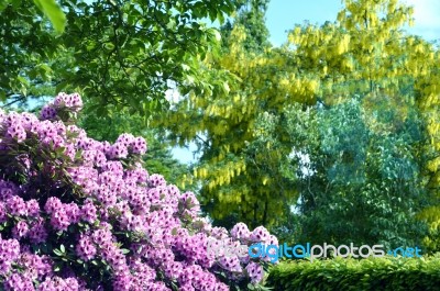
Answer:
<svg viewBox="0 0 440 291"><path fill-rule="evenodd" d="M407 0L415 9L415 26L410 33L424 36L426 40L440 38L440 0ZM275 46L287 40L287 31L296 23L309 21L312 24L323 24L326 21L336 21L342 8L341 0L271 0L266 25L271 33L271 42ZM190 146L194 150L195 146ZM194 161L191 152L186 148L174 148L174 157L182 163Z"/></svg>

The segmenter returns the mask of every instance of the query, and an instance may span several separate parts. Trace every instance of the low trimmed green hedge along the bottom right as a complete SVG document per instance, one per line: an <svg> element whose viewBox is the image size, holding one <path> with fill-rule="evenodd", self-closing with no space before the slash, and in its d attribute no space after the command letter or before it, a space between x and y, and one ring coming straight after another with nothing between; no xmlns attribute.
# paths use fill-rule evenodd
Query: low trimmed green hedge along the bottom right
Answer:
<svg viewBox="0 0 440 291"><path fill-rule="evenodd" d="M267 278L274 290L440 290L440 257L297 260Z"/></svg>

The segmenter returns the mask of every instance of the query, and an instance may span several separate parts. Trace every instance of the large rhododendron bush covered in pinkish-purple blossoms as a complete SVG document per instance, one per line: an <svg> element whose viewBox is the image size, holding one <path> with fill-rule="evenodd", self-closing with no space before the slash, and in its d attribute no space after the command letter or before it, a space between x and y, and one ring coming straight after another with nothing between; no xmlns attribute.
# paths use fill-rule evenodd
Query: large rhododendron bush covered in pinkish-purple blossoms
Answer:
<svg viewBox="0 0 440 291"><path fill-rule="evenodd" d="M267 258L212 245L277 244L264 227L231 234L142 166L146 143L87 137L78 94L36 117L0 110L0 290L229 290L256 284ZM220 242L221 240L221 242Z"/></svg>

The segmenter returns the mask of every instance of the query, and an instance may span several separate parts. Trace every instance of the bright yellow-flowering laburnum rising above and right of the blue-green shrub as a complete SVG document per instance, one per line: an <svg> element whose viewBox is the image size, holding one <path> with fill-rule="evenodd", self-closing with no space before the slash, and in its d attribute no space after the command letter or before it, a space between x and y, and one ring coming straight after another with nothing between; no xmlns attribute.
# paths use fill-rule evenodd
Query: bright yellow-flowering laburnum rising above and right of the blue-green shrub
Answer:
<svg viewBox="0 0 440 291"><path fill-rule="evenodd" d="M415 153L420 164L430 206L420 219L430 225L425 245L439 244L439 49L419 36L403 32L413 22L413 9L397 0L344 1L338 22L321 27L297 25L288 45L300 56L300 66L320 76L318 100L332 105L358 93L387 94L394 104L416 104L429 136ZM399 107L399 105L398 105Z"/></svg>

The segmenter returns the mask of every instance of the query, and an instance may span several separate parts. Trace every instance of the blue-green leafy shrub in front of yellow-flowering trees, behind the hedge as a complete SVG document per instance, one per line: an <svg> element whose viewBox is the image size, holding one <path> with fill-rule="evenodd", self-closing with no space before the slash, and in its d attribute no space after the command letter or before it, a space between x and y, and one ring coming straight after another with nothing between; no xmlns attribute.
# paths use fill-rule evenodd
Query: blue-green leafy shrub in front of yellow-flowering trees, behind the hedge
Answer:
<svg viewBox="0 0 440 291"><path fill-rule="evenodd" d="M416 214L428 203L417 156L422 122L410 104L397 108L391 100L377 97L370 110L367 98L287 110L285 127L297 141L288 167L297 169L300 242L421 243L426 226Z"/></svg>

